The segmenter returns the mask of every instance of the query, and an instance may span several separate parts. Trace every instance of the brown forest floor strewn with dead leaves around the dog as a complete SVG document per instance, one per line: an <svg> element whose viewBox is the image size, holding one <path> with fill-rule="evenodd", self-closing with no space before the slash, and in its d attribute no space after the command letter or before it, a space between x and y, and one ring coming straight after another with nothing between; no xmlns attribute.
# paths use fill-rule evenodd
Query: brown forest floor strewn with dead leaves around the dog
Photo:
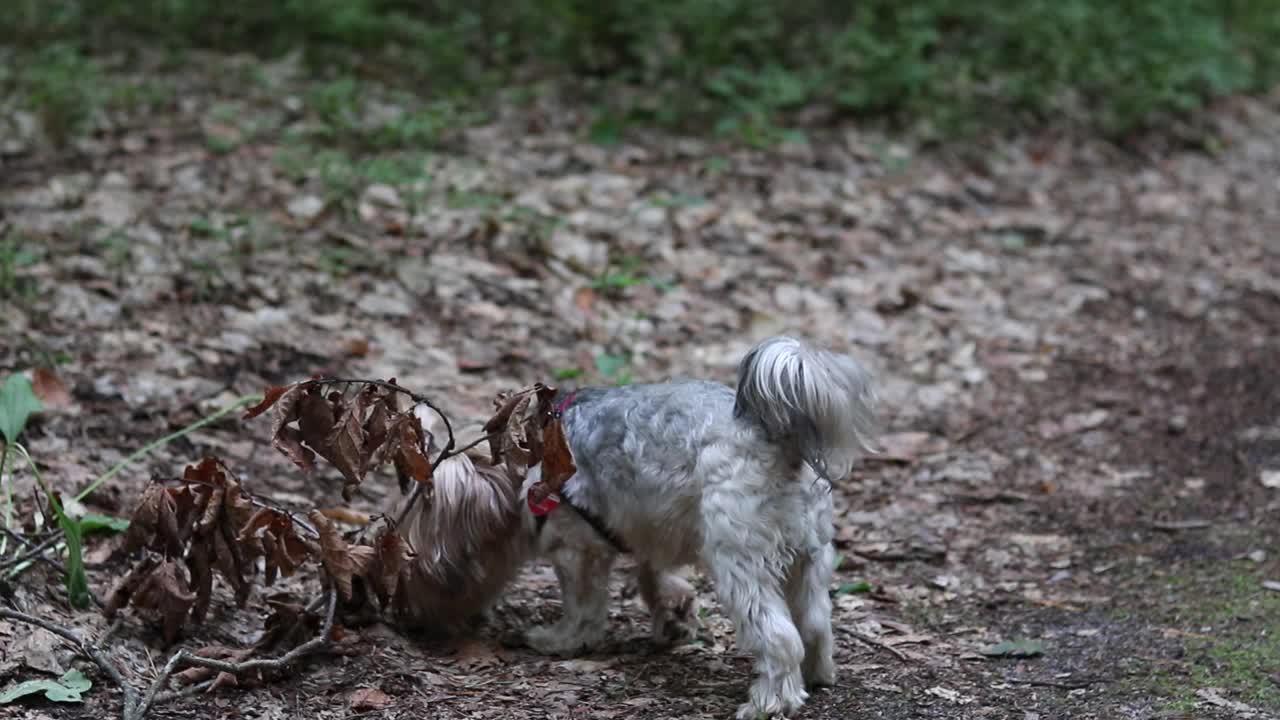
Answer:
<svg viewBox="0 0 1280 720"><path fill-rule="evenodd" d="M56 486L314 373L396 377L477 420L534 379L728 380L753 341L803 332L877 369L890 433L837 488L841 685L804 717L1280 712L1280 592L1262 585L1280 580L1280 488L1263 483L1280 470L1275 101L1221 109L1216 155L1051 137L920 154L854 131L772 152L602 149L536 111L449 151L316 155L283 140L307 118L236 126L284 102L255 92L4 158L8 237L38 261L0 288L0 368L56 361L72 387L28 434ZM211 147L211 117L238 142ZM206 452L279 502L339 502L335 478L305 480L266 436L218 423L92 505L123 512L150 474ZM397 492L365 489L365 509ZM91 547L99 588L118 544ZM155 715L728 716L749 661L712 588L699 642L653 653L614 585L614 646L590 657L500 642L558 611L535 566L461 648L355 628L346 655ZM64 614L42 568L12 596ZM248 642L262 612L223 588L191 642ZM0 623L5 684L32 675L23 635ZM1039 653L983 655L1023 639ZM140 682L154 673L155 633L131 621L116 642ZM351 707L361 688L390 705ZM95 688L18 707L118 705Z"/></svg>

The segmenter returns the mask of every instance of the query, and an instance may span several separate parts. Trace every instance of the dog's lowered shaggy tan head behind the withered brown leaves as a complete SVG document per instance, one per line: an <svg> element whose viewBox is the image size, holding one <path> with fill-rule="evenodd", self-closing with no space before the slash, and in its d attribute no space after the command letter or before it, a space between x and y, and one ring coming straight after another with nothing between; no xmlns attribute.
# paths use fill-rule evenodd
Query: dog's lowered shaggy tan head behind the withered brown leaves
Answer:
<svg viewBox="0 0 1280 720"><path fill-rule="evenodd" d="M532 538L522 533L520 478L480 454L440 462L433 489L430 502L417 502L399 529L417 551L403 615L415 626L449 633L497 600Z"/></svg>

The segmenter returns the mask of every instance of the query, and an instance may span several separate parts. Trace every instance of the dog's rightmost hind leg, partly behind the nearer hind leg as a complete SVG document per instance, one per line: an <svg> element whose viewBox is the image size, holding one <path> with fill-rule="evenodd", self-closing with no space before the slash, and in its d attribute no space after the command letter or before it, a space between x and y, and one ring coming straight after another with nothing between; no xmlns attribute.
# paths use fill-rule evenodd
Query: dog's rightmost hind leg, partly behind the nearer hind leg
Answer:
<svg viewBox="0 0 1280 720"><path fill-rule="evenodd" d="M832 659L831 597L827 584L835 568L835 551L829 544L796 559L787 571L787 605L804 642L804 664L800 671L805 685L832 685L836 662Z"/></svg>

